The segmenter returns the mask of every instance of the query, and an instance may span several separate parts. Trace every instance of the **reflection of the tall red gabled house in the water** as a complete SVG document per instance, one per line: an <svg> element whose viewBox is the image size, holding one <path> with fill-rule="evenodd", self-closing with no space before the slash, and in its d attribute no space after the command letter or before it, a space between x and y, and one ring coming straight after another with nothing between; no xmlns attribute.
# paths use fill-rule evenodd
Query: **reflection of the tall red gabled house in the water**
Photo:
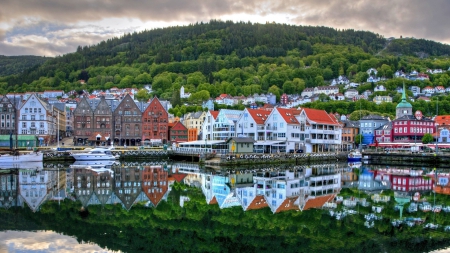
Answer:
<svg viewBox="0 0 450 253"><path fill-rule="evenodd" d="M161 166L146 166L142 171L142 190L154 206L168 193L168 175Z"/></svg>

